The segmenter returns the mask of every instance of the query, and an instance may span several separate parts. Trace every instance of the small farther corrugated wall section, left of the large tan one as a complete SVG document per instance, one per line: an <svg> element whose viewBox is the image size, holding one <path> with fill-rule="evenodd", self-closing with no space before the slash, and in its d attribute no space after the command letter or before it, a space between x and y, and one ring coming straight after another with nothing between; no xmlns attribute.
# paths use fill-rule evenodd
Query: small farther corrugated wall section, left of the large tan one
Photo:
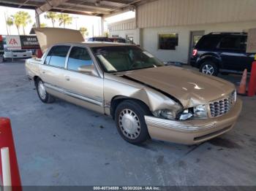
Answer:
<svg viewBox="0 0 256 191"><path fill-rule="evenodd" d="M108 25L110 32L112 31L124 31L124 30L134 30L136 28L135 19L124 20L118 23L112 23Z"/></svg>

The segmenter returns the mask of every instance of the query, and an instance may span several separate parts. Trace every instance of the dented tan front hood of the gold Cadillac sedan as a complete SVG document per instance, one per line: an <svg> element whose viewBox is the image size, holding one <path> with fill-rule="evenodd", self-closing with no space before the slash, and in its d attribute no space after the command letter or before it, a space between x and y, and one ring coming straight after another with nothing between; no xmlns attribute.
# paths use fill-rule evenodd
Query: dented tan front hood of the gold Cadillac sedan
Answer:
<svg viewBox="0 0 256 191"><path fill-rule="evenodd" d="M175 66L141 69L125 76L172 95L185 108L207 104L234 90L234 85L223 79Z"/></svg>

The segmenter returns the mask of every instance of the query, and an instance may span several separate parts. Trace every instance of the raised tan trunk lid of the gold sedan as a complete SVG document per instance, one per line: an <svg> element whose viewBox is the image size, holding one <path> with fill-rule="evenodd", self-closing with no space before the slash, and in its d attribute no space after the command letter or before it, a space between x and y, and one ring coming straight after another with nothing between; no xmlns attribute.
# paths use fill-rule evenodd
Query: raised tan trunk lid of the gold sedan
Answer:
<svg viewBox="0 0 256 191"><path fill-rule="evenodd" d="M32 28L32 33L37 35L42 52L53 44L84 41L80 31L67 28Z"/></svg>

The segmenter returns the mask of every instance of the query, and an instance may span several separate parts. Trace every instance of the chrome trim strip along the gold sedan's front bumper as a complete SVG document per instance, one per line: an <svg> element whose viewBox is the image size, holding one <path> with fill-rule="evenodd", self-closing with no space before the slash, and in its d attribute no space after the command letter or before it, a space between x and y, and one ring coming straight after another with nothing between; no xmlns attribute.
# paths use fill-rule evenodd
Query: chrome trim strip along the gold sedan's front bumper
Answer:
<svg viewBox="0 0 256 191"><path fill-rule="evenodd" d="M145 116L146 124L156 128L164 128L168 130L197 131L209 128L215 128L216 122L206 123L205 125L190 125L187 122L164 120L157 117Z"/></svg>

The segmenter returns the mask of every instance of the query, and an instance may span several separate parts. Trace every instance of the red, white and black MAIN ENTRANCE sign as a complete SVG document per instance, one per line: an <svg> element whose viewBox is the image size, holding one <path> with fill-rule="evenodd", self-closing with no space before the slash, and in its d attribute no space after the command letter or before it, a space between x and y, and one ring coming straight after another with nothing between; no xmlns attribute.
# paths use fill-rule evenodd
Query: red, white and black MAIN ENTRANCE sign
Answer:
<svg viewBox="0 0 256 191"><path fill-rule="evenodd" d="M8 50L22 50L22 49L39 49L37 36L26 35L7 35L6 36Z"/></svg>

